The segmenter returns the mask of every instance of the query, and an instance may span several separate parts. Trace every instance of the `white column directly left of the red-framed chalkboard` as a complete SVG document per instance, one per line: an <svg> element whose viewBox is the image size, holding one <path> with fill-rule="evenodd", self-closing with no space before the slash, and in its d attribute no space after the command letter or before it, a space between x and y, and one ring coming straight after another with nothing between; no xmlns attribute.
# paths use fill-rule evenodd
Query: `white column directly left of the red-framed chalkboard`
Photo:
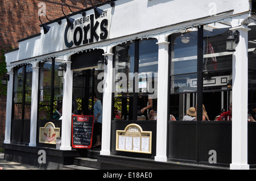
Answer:
<svg viewBox="0 0 256 181"><path fill-rule="evenodd" d="M63 83L63 106L61 125L61 150L71 150L71 119L72 119L72 91L73 91L73 71L71 61L64 61L67 64L67 71L64 73Z"/></svg>

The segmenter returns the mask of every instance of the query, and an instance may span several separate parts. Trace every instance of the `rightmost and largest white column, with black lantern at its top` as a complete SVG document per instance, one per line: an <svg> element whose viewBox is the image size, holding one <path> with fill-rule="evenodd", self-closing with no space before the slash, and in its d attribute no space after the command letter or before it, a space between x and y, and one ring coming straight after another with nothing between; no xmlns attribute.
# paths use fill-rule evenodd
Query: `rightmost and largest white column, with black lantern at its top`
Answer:
<svg viewBox="0 0 256 181"><path fill-rule="evenodd" d="M240 42L233 54L232 89L232 163L230 169L249 169L247 164L247 91L248 91L248 31L246 26L232 28L240 32Z"/></svg>

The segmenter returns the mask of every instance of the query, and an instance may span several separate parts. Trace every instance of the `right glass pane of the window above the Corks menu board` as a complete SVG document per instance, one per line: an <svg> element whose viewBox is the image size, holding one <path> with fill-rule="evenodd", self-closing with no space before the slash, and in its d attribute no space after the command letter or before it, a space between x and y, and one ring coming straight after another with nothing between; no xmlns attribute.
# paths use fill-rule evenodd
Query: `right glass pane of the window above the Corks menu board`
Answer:
<svg viewBox="0 0 256 181"><path fill-rule="evenodd" d="M156 120L149 115L153 108L153 100L157 98L158 89L158 45L157 40L142 40L139 44L139 76L138 76L138 103L137 120ZM156 104L156 102L155 102Z"/></svg>

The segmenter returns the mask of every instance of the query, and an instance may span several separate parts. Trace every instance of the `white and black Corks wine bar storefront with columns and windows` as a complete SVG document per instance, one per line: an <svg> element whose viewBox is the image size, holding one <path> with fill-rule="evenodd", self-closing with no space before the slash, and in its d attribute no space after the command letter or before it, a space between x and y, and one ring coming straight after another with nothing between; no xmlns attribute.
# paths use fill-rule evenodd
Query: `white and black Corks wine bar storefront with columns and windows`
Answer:
<svg viewBox="0 0 256 181"><path fill-rule="evenodd" d="M48 32L42 27L6 52L5 146L54 149L40 133L51 123L60 150L72 150L72 111L93 115L95 92L103 107L101 157L253 167L256 123L246 118L256 104L254 1L109 2L115 6L97 6L97 19L89 8L69 15L71 26L65 17L48 22ZM240 33L234 52L226 51L230 31ZM196 121L183 120L190 107ZM230 107L232 121L215 120ZM156 120L149 120L151 110Z"/></svg>

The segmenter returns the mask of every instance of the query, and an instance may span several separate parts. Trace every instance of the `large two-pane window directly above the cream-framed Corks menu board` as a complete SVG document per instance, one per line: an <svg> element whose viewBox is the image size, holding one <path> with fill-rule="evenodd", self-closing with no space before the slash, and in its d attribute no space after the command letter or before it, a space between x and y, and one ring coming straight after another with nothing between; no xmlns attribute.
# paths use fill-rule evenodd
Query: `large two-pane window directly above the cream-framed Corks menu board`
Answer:
<svg viewBox="0 0 256 181"><path fill-rule="evenodd" d="M149 111L157 111L158 45L156 43L155 39L135 40L114 48L113 119L149 120ZM115 117L119 111L121 115Z"/></svg>

